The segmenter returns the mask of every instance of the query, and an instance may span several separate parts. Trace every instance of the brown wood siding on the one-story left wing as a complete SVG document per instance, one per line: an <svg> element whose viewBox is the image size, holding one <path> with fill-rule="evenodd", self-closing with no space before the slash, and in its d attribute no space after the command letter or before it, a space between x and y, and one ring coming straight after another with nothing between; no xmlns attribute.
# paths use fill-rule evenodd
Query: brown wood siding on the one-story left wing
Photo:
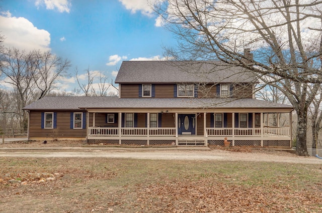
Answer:
<svg viewBox="0 0 322 213"><path fill-rule="evenodd" d="M41 128L41 112L43 111L30 111L29 137L48 137L48 139L57 137L86 137L86 129L70 129L70 111L57 112L56 129Z"/></svg>

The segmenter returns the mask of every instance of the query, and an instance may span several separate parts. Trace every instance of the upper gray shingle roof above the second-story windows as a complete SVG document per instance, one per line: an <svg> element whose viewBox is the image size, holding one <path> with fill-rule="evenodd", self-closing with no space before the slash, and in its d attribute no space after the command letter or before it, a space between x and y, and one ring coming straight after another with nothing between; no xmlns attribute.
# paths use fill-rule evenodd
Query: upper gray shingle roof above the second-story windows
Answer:
<svg viewBox="0 0 322 213"><path fill-rule="evenodd" d="M254 82L255 75L220 61L123 61L115 83Z"/></svg>

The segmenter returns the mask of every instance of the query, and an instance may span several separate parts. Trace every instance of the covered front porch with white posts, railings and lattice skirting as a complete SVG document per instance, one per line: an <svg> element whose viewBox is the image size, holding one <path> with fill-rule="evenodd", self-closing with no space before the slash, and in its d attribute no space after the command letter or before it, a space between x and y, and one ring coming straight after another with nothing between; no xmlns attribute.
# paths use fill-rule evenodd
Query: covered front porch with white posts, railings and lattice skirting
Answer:
<svg viewBox="0 0 322 213"><path fill-rule="evenodd" d="M291 146L289 110L234 111L88 109L87 140L110 145L220 146L227 137L232 146Z"/></svg>

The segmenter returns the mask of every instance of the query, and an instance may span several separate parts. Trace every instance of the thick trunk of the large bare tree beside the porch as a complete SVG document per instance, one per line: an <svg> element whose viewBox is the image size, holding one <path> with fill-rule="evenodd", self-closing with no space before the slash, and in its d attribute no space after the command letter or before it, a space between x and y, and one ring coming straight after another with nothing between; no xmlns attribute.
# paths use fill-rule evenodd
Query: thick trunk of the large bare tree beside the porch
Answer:
<svg viewBox="0 0 322 213"><path fill-rule="evenodd" d="M296 154L309 156L306 147L307 110L297 112Z"/></svg>

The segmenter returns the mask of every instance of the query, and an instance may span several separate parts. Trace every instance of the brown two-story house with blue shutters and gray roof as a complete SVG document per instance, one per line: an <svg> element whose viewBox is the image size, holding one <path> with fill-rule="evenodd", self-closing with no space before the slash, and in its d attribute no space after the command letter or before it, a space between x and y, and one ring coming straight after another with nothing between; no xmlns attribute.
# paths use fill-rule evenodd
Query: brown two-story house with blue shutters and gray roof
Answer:
<svg viewBox="0 0 322 213"><path fill-rule="evenodd" d="M44 97L28 137L110 145L291 146L292 106L255 99L252 72L218 61L124 61L119 97Z"/></svg>

